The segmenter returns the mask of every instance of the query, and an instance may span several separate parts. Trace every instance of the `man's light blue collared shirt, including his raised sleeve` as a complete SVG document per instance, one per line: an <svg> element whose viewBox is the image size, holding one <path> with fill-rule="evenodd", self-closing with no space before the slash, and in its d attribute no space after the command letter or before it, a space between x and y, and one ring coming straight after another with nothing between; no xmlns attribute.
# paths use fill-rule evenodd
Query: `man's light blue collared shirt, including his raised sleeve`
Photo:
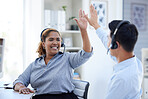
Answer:
<svg viewBox="0 0 148 99"><path fill-rule="evenodd" d="M108 48L107 33L102 28L98 28L96 33L104 46ZM112 56L112 58L116 61L115 57ZM105 99L140 99L142 79L142 63L136 56L116 64L113 68Z"/></svg>

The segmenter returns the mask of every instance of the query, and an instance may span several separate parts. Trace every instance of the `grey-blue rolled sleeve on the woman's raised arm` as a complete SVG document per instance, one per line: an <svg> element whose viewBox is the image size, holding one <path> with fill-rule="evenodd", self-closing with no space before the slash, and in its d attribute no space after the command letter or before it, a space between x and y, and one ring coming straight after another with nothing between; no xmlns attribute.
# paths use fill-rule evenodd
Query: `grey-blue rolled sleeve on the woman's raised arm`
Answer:
<svg viewBox="0 0 148 99"><path fill-rule="evenodd" d="M85 52L83 49L78 53L71 53L69 57L69 63L72 68L77 68L78 66L84 64L93 54L93 48L91 52Z"/></svg>

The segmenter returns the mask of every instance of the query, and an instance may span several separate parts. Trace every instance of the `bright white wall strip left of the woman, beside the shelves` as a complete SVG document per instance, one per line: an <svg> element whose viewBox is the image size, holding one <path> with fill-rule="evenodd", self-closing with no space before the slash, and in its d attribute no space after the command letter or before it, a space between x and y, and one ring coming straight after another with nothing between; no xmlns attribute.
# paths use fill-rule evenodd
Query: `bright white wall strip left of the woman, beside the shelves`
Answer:
<svg viewBox="0 0 148 99"><path fill-rule="evenodd" d="M36 59L43 26L43 0L24 0L24 69Z"/></svg>

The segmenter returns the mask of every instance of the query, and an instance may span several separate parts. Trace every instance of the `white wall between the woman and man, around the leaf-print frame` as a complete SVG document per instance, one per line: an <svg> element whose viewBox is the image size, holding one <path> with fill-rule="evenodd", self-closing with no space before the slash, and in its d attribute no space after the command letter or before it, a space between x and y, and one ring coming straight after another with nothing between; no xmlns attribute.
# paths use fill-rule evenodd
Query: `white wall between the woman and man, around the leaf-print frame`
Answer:
<svg viewBox="0 0 148 99"><path fill-rule="evenodd" d="M83 9L89 13L89 0L84 0ZM108 0L108 23L114 19L122 19L122 0ZM108 31L108 29L106 29ZM94 54L82 67L82 79L90 82L88 99L104 99L108 80L112 74L114 62L106 54L102 42L95 30L88 29Z"/></svg>

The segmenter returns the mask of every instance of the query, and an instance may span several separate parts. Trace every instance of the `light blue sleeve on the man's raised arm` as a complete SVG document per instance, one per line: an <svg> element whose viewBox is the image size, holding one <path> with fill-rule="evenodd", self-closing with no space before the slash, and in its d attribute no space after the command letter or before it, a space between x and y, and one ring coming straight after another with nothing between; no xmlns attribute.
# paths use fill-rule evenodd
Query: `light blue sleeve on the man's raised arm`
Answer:
<svg viewBox="0 0 148 99"><path fill-rule="evenodd" d="M107 46L107 42L108 42L107 33L104 31L103 28L100 27L100 28L98 28L98 29L96 30L96 34L98 35L98 37L99 37L100 40L102 41L104 47L108 50L108 46ZM110 55L110 57L111 57L115 62L117 62L116 57L112 56L112 55L110 54L110 51L109 51L109 55Z"/></svg>

